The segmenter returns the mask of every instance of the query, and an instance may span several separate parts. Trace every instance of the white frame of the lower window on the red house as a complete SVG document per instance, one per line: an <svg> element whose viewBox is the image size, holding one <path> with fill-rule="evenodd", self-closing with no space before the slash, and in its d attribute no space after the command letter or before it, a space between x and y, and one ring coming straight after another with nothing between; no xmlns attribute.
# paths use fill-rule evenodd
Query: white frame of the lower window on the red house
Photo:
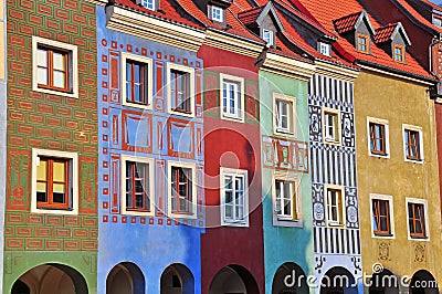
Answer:
<svg viewBox="0 0 442 294"><path fill-rule="evenodd" d="M224 177L240 176L244 180L244 191L243 191L243 219L241 220L228 220L225 218L225 188L224 188ZM234 181L233 181L234 182ZM231 227L249 227L249 177L248 170L245 169L233 169L233 168L220 168L220 204L221 204L221 225Z"/></svg>

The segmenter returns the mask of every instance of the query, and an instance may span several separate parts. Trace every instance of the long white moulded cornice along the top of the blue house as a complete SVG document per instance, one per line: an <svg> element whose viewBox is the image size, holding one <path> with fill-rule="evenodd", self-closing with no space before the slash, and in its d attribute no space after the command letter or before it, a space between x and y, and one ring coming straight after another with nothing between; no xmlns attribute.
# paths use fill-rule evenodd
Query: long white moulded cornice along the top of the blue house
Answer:
<svg viewBox="0 0 442 294"><path fill-rule="evenodd" d="M171 46L197 52L204 41L202 30L170 23L119 7L107 7L107 28Z"/></svg>

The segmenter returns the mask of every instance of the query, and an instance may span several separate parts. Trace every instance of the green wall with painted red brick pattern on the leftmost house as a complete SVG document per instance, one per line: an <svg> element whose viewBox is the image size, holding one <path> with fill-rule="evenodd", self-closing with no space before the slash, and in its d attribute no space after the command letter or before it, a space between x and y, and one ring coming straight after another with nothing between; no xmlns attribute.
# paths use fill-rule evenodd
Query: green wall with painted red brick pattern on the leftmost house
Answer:
<svg viewBox="0 0 442 294"><path fill-rule="evenodd" d="M6 251L96 251L96 20L84 1L9 0ZM78 98L32 91L32 35L78 49ZM78 216L30 213L32 148L78 154Z"/></svg>

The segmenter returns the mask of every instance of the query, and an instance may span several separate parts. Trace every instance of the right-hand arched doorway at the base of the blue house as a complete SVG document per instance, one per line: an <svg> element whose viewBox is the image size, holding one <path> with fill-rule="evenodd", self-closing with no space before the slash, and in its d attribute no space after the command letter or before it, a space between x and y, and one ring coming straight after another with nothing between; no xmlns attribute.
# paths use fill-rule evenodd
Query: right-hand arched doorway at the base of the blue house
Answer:
<svg viewBox="0 0 442 294"><path fill-rule="evenodd" d="M193 294L194 279L182 264L169 265L161 274L161 294Z"/></svg>

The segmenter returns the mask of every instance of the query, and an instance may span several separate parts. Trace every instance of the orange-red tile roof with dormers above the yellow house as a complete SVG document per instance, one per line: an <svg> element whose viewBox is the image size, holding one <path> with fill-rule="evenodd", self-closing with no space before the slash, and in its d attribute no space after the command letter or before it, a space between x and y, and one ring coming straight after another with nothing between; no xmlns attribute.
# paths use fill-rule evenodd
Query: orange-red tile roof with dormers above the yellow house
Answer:
<svg viewBox="0 0 442 294"><path fill-rule="evenodd" d="M295 0L291 1L295 2ZM298 9L307 9L313 14L313 18L315 20L317 20L325 28L332 31L334 30L333 20L344 18L351 13L365 10L358 0L346 0L345 4L343 4L341 0L315 0L315 1L296 0L296 1L298 1L302 4L302 7L299 7ZM377 18L370 15L369 12L367 12L367 15L375 30L382 27L382 24L377 21ZM345 38L339 38L337 42L338 42L337 45L340 46L341 50L344 51L343 52L344 55L350 54L350 56L354 56L360 63L366 62L376 64L378 66L382 66L383 69L391 69L392 71L401 71L403 73L409 73L430 78L433 77L408 52L406 52L407 63L398 63L394 62L392 56L388 54L386 51L383 51L381 48L379 48L376 43L371 44L371 54L366 54L358 52L355 45Z"/></svg>

